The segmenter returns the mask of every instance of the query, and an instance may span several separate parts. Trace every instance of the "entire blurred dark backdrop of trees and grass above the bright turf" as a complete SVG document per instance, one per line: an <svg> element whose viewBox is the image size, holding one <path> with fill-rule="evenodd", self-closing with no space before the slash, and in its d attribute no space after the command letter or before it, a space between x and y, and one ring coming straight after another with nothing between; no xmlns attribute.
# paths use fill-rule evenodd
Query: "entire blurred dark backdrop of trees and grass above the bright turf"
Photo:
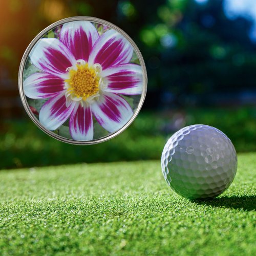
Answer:
<svg viewBox="0 0 256 256"><path fill-rule="evenodd" d="M148 91L134 123L91 146L40 131L18 95L20 59L45 27L70 16L114 23L136 42ZM0 169L160 159L170 135L202 123L238 152L256 151L256 2L251 0L1 0Z"/></svg>

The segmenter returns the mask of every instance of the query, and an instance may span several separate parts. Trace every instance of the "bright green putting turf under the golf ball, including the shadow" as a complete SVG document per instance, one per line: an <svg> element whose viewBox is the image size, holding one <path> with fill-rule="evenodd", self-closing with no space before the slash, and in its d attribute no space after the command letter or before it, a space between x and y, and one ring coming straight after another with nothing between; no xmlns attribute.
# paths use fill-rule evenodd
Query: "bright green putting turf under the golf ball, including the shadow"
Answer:
<svg viewBox="0 0 256 256"><path fill-rule="evenodd" d="M176 196L159 161L0 172L0 254L255 255L256 154L217 199Z"/></svg>

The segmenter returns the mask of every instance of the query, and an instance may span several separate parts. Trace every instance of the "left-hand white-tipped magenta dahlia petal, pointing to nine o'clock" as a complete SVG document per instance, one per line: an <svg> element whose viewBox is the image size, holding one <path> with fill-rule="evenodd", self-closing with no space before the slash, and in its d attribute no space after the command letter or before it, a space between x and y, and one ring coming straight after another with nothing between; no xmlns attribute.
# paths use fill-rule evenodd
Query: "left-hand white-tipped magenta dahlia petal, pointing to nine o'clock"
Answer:
<svg viewBox="0 0 256 256"><path fill-rule="evenodd" d="M24 81L25 95L31 99L51 98L63 91L64 80L47 73L34 73Z"/></svg>

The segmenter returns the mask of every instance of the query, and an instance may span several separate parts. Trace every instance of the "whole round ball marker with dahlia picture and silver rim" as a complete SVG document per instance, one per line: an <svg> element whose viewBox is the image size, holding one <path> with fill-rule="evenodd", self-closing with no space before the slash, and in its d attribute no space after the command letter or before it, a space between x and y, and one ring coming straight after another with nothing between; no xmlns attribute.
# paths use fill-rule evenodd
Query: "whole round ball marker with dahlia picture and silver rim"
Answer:
<svg viewBox="0 0 256 256"><path fill-rule="evenodd" d="M34 123L72 144L123 132L146 94L146 69L134 41L93 17L62 19L31 42L19 68L19 93Z"/></svg>

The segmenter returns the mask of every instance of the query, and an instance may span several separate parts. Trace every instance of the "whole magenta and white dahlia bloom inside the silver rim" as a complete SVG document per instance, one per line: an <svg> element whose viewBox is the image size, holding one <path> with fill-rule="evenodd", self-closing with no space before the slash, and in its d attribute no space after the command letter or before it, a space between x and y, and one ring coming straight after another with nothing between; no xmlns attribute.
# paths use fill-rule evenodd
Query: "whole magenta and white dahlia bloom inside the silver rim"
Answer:
<svg viewBox="0 0 256 256"><path fill-rule="evenodd" d="M74 140L92 140L93 116L108 132L118 131L133 116L120 95L142 93L140 65L130 63L133 47L119 32L99 35L88 21L62 26L59 38L42 38L30 52L41 72L24 81L32 99L48 99L39 121L54 131L69 119Z"/></svg>

